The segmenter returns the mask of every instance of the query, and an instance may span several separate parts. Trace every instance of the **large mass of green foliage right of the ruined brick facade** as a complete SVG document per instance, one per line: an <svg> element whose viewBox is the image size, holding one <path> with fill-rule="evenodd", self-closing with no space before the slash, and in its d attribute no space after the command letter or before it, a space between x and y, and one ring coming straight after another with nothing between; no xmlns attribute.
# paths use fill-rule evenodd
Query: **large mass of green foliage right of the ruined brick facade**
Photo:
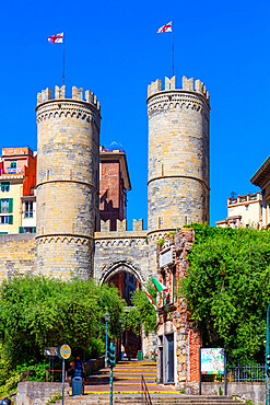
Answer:
<svg viewBox="0 0 270 405"><path fill-rule="evenodd" d="M180 291L206 347L225 345L230 362L263 362L270 301L270 232L191 224L195 244Z"/></svg>

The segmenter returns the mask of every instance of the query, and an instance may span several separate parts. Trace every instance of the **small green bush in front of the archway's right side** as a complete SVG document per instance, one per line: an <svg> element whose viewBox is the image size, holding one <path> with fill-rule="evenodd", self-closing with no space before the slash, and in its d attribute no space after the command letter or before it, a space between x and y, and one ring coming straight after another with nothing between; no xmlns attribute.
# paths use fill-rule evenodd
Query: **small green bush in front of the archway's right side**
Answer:
<svg viewBox="0 0 270 405"><path fill-rule="evenodd" d="M148 284L148 291L155 302L156 292L150 281ZM150 332L156 332L156 312L150 304L148 297L143 290L134 291L131 302L134 306L125 314L124 326L127 331L133 331L136 334L140 333L141 324L143 324L145 335Z"/></svg>

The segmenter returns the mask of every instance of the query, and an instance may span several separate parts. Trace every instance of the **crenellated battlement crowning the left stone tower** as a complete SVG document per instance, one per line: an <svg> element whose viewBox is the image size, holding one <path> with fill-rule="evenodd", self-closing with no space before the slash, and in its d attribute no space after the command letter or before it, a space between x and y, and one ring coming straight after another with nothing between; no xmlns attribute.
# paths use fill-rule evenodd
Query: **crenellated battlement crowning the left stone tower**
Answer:
<svg viewBox="0 0 270 405"><path fill-rule="evenodd" d="M42 93L37 93L37 105L45 103L50 100L78 100L83 101L90 104L94 104L97 111L101 111L101 104L96 99L94 93L91 93L90 90L85 91L83 97L83 89L77 89L74 85L72 88L72 99L66 97L66 85L59 88L58 85L55 86L55 99L51 97L51 89L47 88L43 90Z"/></svg>

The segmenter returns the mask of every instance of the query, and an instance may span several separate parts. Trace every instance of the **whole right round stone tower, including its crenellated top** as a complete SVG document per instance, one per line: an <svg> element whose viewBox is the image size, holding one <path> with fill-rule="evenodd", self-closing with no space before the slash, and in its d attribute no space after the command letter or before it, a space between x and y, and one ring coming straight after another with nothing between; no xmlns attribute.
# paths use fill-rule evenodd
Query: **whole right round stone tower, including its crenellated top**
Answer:
<svg viewBox="0 0 270 405"><path fill-rule="evenodd" d="M200 80L195 88L185 77L181 89L175 77L165 78L165 90L161 80L149 85L149 241L186 223L209 222L209 113Z"/></svg>

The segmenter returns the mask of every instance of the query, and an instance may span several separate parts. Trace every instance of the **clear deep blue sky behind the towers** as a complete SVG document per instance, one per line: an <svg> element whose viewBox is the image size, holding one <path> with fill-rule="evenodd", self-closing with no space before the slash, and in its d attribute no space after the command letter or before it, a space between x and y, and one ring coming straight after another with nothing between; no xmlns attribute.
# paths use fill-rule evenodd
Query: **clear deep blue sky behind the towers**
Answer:
<svg viewBox="0 0 270 405"><path fill-rule="evenodd" d="M257 188L249 178L269 155L270 2L259 1L10 1L2 2L0 148L36 149L36 93L61 85L66 32L66 84L94 91L102 105L101 143L127 153L132 190L129 228L146 228L146 86L175 73L202 80L211 97L211 224L226 217L231 192Z"/></svg>

